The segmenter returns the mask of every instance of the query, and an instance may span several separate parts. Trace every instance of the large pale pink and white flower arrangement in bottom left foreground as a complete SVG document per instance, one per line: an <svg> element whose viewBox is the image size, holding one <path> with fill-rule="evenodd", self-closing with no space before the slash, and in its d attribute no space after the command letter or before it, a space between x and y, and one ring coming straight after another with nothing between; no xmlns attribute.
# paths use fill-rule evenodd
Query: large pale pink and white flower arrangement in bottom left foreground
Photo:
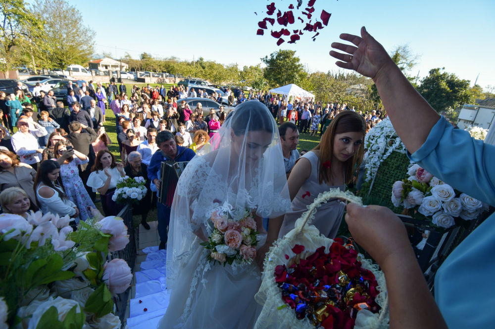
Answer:
<svg viewBox="0 0 495 329"><path fill-rule="evenodd" d="M129 287L127 263L106 262L129 243L122 219L95 215L76 231L69 222L41 211L0 215L0 328L89 328L87 316L108 318L111 294Z"/></svg>

